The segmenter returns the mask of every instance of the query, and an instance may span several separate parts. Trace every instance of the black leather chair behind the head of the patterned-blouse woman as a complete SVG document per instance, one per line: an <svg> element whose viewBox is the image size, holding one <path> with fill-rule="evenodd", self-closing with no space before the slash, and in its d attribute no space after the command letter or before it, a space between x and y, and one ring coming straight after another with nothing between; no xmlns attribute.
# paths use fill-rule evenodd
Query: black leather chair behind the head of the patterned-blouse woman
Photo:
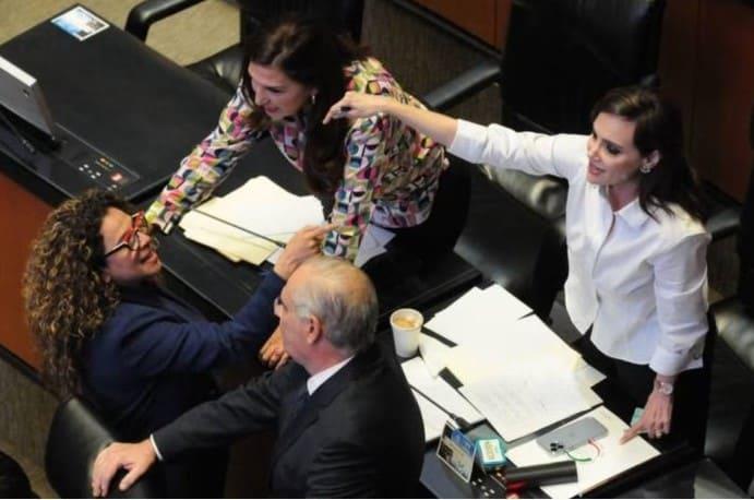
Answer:
<svg viewBox="0 0 754 500"><path fill-rule="evenodd" d="M146 0L129 13L125 31L146 39L152 24L195 5L203 0ZM297 11L325 20L337 29L361 38L363 0L239 0L241 43L260 23L286 12ZM232 93L243 71L243 49L234 45L189 68L213 82L227 93Z"/></svg>

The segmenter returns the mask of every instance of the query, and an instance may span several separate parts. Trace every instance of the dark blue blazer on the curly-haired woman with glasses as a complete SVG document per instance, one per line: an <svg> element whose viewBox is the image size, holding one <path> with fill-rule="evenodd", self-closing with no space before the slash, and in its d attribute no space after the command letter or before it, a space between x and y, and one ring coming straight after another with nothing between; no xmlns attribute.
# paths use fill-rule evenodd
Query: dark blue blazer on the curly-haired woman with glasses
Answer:
<svg viewBox="0 0 754 500"><path fill-rule="evenodd" d="M268 273L224 323L156 286L123 289L121 302L82 349L84 396L122 439L144 439L211 397L212 368L255 356L277 325L284 282Z"/></svg>

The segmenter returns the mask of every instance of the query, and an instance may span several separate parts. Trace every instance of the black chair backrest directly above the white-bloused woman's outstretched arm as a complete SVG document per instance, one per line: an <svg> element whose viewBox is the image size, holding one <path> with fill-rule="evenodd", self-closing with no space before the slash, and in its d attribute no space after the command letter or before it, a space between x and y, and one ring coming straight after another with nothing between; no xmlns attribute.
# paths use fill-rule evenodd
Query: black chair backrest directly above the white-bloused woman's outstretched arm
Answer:
<svg viewBox="0 0 754 500"><path fill-rule="evenodd" d="M503 58L503 122L587 133L608 90L657 70L663 0L514 0Z"/></svg>

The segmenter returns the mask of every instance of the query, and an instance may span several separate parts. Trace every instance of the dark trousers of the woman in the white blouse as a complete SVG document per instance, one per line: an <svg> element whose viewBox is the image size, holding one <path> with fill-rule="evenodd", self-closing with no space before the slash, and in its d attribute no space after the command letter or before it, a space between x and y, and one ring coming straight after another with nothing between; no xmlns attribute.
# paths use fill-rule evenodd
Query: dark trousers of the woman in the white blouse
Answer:
<svg viewBox="0 0 754 500"><path fill-rule="evenodd" d="M709 407L707 358L711 361L711 356L707 356L707 350L711 352L711 348L709 345L705 347L705 367L683 371L675 379L670 434L658 440L660 442L686 440L699 454L704 452ZM647 365L634 365L602 354L591 343L591 330L577 342L576 348L589 365L617 382L619 388L631 397L635 407L645 406L657 374ZM633 408L626 415L619 416L630 421L632 413Z"/></svg>

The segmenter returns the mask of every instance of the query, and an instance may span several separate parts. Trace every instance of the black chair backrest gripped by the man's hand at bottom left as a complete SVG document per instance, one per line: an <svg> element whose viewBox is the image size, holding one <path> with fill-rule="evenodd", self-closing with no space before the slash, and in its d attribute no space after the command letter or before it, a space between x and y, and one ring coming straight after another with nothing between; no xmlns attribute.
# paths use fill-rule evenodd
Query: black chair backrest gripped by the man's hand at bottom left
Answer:
<svg viewBox="0 0 754 500"><path fill-rule="evenodd" d="M60 404L47 437L45 471L60 498L92 498L92 466L100 450L117 437L94 409L76 397ZM112 485L123 477L121 471ZM164 498L157 475L147 473L127 491L110 488L108 498Z"/></svg>

